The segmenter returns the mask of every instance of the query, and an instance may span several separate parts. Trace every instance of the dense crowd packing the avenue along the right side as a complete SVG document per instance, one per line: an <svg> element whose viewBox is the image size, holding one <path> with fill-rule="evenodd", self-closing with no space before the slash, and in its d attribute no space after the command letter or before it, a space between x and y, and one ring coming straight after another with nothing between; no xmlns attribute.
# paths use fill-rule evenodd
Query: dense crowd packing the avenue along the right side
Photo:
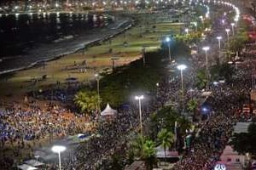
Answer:
<svg viewBox="0 0 256 170"><path fill-rule="evenodd" d="M216 30L219 29L218 27ZM213 35L213 37L216 36ZM247 48L247 52L252 54L253 50ZM242 57L247 56L242 55ZM252 55L248 57L251 58ZM205 102L205 105L211 105L212 113L206 122L200 124L199 136L195 138L187 154L174 166L175 170L214 169L224 147L228 144L236 122L252 120L252 113L242 112L242 106L250 104L249 97L252 89L250 65L252 60L234 65L235 74L229 82L212 84L210 87L212 96Z"/></svg>

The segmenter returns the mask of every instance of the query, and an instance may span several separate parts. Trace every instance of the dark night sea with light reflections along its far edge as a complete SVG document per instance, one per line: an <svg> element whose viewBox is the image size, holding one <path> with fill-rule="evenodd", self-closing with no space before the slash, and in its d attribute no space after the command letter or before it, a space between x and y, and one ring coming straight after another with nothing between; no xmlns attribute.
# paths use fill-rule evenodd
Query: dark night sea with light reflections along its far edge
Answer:
<svg viewBox="0 0 256 170"><path fill-rule="evenodd" d="M0 14L0 74L73 53L127 22L103 14Z"/></svg>

